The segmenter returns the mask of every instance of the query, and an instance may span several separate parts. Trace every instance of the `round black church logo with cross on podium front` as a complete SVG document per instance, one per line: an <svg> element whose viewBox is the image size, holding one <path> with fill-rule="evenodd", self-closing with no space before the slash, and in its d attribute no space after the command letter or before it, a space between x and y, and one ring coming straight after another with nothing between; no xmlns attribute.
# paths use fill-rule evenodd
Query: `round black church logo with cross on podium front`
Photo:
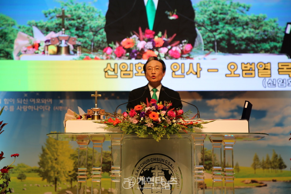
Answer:
<svg viewBox="0 0 291 194"><path fill-rule="evenodd" d="M181 170L169 156L150 154L136 163L132 176L124 178L122 186L135 194L181 193Z"/></svg>

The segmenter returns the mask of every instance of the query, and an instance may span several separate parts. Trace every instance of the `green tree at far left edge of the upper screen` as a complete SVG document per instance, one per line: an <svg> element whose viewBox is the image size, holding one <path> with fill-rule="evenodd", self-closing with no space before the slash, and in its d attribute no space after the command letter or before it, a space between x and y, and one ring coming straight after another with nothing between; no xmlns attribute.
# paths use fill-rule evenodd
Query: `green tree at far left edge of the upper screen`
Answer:
<svg viewBox="0 0 291 194"><path fill-rule="evenodd" d="M17 36L16 22L0 13L0 60L13 59L13 45Z"/></svg>

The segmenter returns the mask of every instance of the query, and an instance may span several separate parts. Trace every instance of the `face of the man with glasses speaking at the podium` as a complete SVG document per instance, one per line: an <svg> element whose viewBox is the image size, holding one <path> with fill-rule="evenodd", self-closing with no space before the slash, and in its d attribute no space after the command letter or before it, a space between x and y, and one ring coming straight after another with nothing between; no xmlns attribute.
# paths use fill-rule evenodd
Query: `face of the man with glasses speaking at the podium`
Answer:
<svg viewBox="0 0 291 194"><path fill-rule="evenodd" d="M156 69L159 69L159 72L156 72ZM152 60L146 64L146 79L149 81L149 84L154 87L157 87L161 84L165 73L166 71L163 72L162 63L159 61Z"/></svg>

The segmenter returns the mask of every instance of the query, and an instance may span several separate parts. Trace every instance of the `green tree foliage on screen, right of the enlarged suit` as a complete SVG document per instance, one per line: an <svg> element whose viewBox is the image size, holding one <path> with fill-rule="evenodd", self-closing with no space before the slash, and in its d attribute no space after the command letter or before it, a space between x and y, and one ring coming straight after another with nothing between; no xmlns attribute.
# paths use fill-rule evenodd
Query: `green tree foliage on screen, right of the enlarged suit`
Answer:
<svg viewBox="0 0 291 194"><path fill-rule="evenodd" d="M277 19L266 19L264 14L248 15L251 5L232 0L203 0L194 6L197 28L202 34L205 49L224 53L278 53L284 30Z"/></svg>

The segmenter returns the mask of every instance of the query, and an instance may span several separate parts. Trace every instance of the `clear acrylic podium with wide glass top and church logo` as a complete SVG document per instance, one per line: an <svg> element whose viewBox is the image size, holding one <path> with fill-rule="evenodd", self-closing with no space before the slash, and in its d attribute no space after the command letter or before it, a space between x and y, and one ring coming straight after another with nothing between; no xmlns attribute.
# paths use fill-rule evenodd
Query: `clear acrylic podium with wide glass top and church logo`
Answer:
<svg viewBox="0 0 291 194"><path fill-rule="evenodd" d="M122 131L96 133L49 133L60 141L75 141L79 156L93 144L92 166L80 161L77 193L86 192L87 174L91 176L91 193L101 193L103 142L111 142L111 192L116 194L205 193L204 142L212 143L212 193L234 193L234 145L255 141L266 133L185 133L162 138L160 142L139 138ZM96 153L94 155L94 150ZM83 152L83 153L82 153ZM85 153L84 153L85 152ZM82 191L81 191L82 190Z"/></svg>

